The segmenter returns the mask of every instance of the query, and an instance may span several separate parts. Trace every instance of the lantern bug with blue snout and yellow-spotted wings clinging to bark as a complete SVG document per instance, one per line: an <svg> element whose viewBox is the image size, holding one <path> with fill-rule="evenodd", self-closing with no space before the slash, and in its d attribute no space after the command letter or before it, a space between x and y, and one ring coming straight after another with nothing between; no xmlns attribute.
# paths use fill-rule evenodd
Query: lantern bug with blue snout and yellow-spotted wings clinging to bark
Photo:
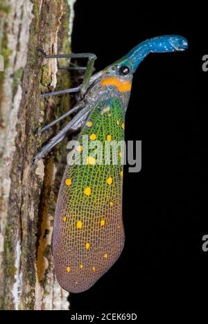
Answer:
<svg viewBox="0 0 208 324"><path fill-rule="evenodd" d="M81 100L66 114L40 129L76 116L35 156L35 163L62 141L69 130L81 129L76 150L83 154L82 136L89 141L121 141L124 138L132 76L149 53L184 51L187 39L164 35L137 45L127 55L92 75L94 54L45 55L46 58L87 57L83 83L76 88L43 96L80 91ZM121 158L121 152L118 153ZM105 157L104 157L105 159ZM98 164L89 150L85 164L68 165L59 190L53 228L53 261L58 282L67 291L79 293L94 283L116 262L123 249L123 165Z"/></svg>

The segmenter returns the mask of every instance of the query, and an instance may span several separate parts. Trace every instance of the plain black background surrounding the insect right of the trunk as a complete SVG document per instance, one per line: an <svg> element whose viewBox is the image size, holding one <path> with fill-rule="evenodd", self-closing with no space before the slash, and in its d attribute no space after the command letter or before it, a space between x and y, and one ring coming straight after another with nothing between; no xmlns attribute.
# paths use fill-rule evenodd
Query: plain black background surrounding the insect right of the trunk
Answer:
<svg viewBox="0 0 208 324"><path fill-rule="evenodd" d="M149 55L135 73L125 140L142 141L142 170L124 172L125 247L94 287L71 294L73 311L164 307L174 293L177 305L200 300L195 288L207 289L207 17L199 3L190 6L154 8L130 0L75 5L72 49L95 53L96 71L157 35L183 35L189 50Z"/></svg>

